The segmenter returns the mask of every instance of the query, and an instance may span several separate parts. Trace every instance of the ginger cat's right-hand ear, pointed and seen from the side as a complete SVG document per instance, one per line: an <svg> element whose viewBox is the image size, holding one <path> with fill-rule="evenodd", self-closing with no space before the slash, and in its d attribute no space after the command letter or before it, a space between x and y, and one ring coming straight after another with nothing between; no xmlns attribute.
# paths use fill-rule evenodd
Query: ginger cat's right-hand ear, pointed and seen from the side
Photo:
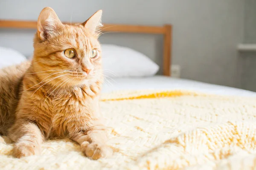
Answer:
<svg viewBox="0 0 256 170"><path fill-rule="evenodd" d="M102 26L101 18L102 10L99 10L95 12L88 20L82 23L82 25L93 33L97 32L97 29Z"/></svg>

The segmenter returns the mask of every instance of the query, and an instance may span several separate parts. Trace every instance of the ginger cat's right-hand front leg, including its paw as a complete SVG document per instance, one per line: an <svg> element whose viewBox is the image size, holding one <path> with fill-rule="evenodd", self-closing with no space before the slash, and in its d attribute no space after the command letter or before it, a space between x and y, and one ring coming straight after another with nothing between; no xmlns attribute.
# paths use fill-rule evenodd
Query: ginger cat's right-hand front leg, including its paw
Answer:
<svg viewBox="0 0 256 170"><path fill-rule="evenodd" d="M78 133L72 138L81 145L82 152L96 160L112 155L112 150L106 145L107 133L102 125L94 126L86 133Z"/></svg>

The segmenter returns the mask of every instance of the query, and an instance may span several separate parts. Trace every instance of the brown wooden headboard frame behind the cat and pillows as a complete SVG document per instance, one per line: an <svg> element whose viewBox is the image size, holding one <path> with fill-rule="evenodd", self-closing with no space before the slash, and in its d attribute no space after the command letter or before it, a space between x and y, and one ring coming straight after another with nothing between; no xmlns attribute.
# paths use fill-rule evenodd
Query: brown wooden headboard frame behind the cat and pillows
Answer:
<svg viewBox="0 0 256 170"><path fill-rule="evenodd" d="M64 23L69 24L69 23ZM75 24L75 23L74 23ZM170 67L172 59L172 25L164 26L137 26L137 25L118 25L103 24L102 32L125 32L142 34L163 35L163 75L171 76ZM22 20L0 20L0 28L15 29L36 29L36 21Z"/></svg>

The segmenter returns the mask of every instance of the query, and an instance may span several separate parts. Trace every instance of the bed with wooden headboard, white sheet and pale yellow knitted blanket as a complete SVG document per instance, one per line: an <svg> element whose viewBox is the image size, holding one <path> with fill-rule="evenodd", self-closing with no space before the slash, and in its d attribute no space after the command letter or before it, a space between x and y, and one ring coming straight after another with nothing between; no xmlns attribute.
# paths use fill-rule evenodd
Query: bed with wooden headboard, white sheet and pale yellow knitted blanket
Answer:
<svg viewBox="0 0 256 170"><path fill-rule="evenodd" d="M1 27L35 29L36 22L0 20ZM61 139L44 142L41 156L17 159L12 157L12 142L4 137L5 142L0 143L0 169L246 170L256 167L256 92L172 78L171 25L105 24L103 30L164 37L163 75L156 75L158 67L131 49L121 53L126 54L123 58L131 52L134 54L131 58L141 57L148 67L141 68L134 63L127 67L125 63L129 61L120 63L116 55L108 58L123 64L125 70L112 72L113 66L106 67L109 74L102 89L102 117L108 127L108 144L114 150L113 156L93 161L82 155L78 144ZM120 49L112 47L118 48L115 52ZM138 69L141 75L134 72Z"/></svg>

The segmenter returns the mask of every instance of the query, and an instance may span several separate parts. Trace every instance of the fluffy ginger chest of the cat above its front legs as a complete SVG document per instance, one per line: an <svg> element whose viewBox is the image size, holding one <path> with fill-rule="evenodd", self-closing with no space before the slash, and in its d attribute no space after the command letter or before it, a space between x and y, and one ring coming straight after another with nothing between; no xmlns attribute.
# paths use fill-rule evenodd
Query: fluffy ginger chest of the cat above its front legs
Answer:
<svg viewBox="0 0 256 170"><path fill-rule="evenodd" d="M86 131L97 119L99 112L98 97L90 96L87 87L74 88L47 98L50 103L50 121L45 135L51 137L66 137L73 133Z"/></svg>

